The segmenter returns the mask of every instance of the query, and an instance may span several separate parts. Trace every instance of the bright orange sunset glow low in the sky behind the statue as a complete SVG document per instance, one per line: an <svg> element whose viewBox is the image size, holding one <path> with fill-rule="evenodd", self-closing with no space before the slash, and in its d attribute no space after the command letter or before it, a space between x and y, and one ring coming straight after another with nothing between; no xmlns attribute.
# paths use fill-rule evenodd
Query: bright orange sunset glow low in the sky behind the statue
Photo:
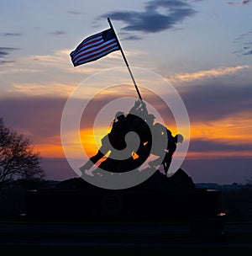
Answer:
<svg viewBox="0 0 252 256"><path fill-rule="evenodd" d="M157 120L158 121L158 120ZM102 137L106 136L111 127L101 126L95 129L87 128L80 131L80 136L76 136L76 132L69 135L69 149L73 152L73 156L80 157L80 147L76 147L81 143L82 149L88 157L92 157L102 145ZM175 136L177 127L168 127L172 135ZM204 148L198 149L197 152L187 152L186 157L189 159L207 159L220 157L252 157L252 152L246 150L246 145L250 145L252 141L252 120L249 113L243 113L236 116L226 117L222 120L209 121L206 123L191 124L191 140L210 141L213 143L223 143L226 145L244 145L244 150L236 151L206 151ZM183 132L180 131L182 134ZM75 133L75 135L74 135ZM64 150L61 145L60 136L50 137L45 143L36 144L34 150L40 153L41 157L65 157ZM178 156L179 157L179 156Z"/></svg>

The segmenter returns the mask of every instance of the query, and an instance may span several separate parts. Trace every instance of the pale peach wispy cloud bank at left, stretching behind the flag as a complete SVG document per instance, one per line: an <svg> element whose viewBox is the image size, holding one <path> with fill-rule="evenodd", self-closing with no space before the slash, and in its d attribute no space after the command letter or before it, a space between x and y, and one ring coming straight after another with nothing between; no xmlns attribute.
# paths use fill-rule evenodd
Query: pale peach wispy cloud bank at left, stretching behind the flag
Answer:
<svg viewBox="0 0 252 256"><path fill-rule="evenodd" d="M12 78L1 84L0 98L3 99L9 94L16 97L39 95L68 97L79 83L92 76L94 78L85 87L81 88L82 94L79 95L81 99L87 99L92 97L97 90L104 88L104 80L101 80L99 75L97 77L94 75L99 74L102 70L117 67L118 64L115 63L122 62L122 56L118 52L118 55L111 54L104 61L97 61L92 65L87 64L85 68L73 67L69 56L70 52L70 49L64 49L55 51L51 55L18 56L15 58L16 62L3 58L5 68L0 68L0 75L3 80L4 77ZM139 56L143 53L130 51L127 54L129 56ZM3 65L1 61L0 59L0 65ZM111 75L111 77L107 76L106 79L109 79L112 83L117 81L114 72L104 72L103 77L105 73ZM58 77L57 81L55 81L55 77ZM128 79L125 80L128 81Z"/></svg>

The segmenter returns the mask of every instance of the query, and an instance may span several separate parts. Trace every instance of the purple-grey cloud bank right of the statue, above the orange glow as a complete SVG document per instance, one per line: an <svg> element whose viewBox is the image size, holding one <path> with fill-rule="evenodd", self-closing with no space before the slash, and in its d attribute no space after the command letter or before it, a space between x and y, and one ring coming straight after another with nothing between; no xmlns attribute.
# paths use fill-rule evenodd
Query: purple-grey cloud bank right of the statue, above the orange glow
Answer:
<svg viewBox="0 0 252 256"><path fill-rule="evenodd" d="M180 94L192 121L218 120L252 109L250 85L227 87L209 83L182 88Z"/></svg>

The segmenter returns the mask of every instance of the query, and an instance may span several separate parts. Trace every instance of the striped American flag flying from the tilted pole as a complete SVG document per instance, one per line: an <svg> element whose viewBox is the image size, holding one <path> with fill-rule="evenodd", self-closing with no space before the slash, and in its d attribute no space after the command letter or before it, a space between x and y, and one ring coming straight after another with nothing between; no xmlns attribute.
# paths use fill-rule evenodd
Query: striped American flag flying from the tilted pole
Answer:
<svg viewBox="0 0 252 256"><path fill-rule="evenodd" d="M70 56L74 67L76 67L90 61L96 61L119 49L120 46L113 29L107 29L87 37L77 46L75 51L71 52Z"/></svg>

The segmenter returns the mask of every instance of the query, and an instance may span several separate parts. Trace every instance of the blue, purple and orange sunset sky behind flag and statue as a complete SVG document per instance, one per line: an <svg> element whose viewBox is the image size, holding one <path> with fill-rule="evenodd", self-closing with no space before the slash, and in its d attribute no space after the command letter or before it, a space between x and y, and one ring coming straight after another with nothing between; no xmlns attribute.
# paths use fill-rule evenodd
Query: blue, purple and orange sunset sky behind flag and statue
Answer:
<svg viewBox="0 0 252 256"><path fill-rule="evenodd" d="M47 179L76 177L61 146L60 120L66 100L81 83L84 85L76 102L88 101L108 86L108 81L111 86L126 86L123 91L102 94L95 100L97 108L124 94L137 99L129 74L126 72L125 78L120 75L118 68L125 64L119 51L80 67L71 63L70 52L87 36L108 29L108 17L139 87L159 86L160 95L169 93L165 83L156 85L158 81L141 77L138 72L150 71L171 83L186 106L190 146L181 168L196 183L245 184L252 176L252 1L0 3L0 117L31 138L42 157ZM113 69L114 77L105 84L100 73ZM141 93L166 115L144 88ZM129 106L125 104L123 110ZM114 114L100 121L97 143ZM169 122L169 114L166 116ZM89 136L89 122L83 120L84 136ZM172 121L167 125L176 132ZM89 140L92 138L86 137L82 142L92 155L97 148ZM85 163L74 147L72 152Z"/></svg>

